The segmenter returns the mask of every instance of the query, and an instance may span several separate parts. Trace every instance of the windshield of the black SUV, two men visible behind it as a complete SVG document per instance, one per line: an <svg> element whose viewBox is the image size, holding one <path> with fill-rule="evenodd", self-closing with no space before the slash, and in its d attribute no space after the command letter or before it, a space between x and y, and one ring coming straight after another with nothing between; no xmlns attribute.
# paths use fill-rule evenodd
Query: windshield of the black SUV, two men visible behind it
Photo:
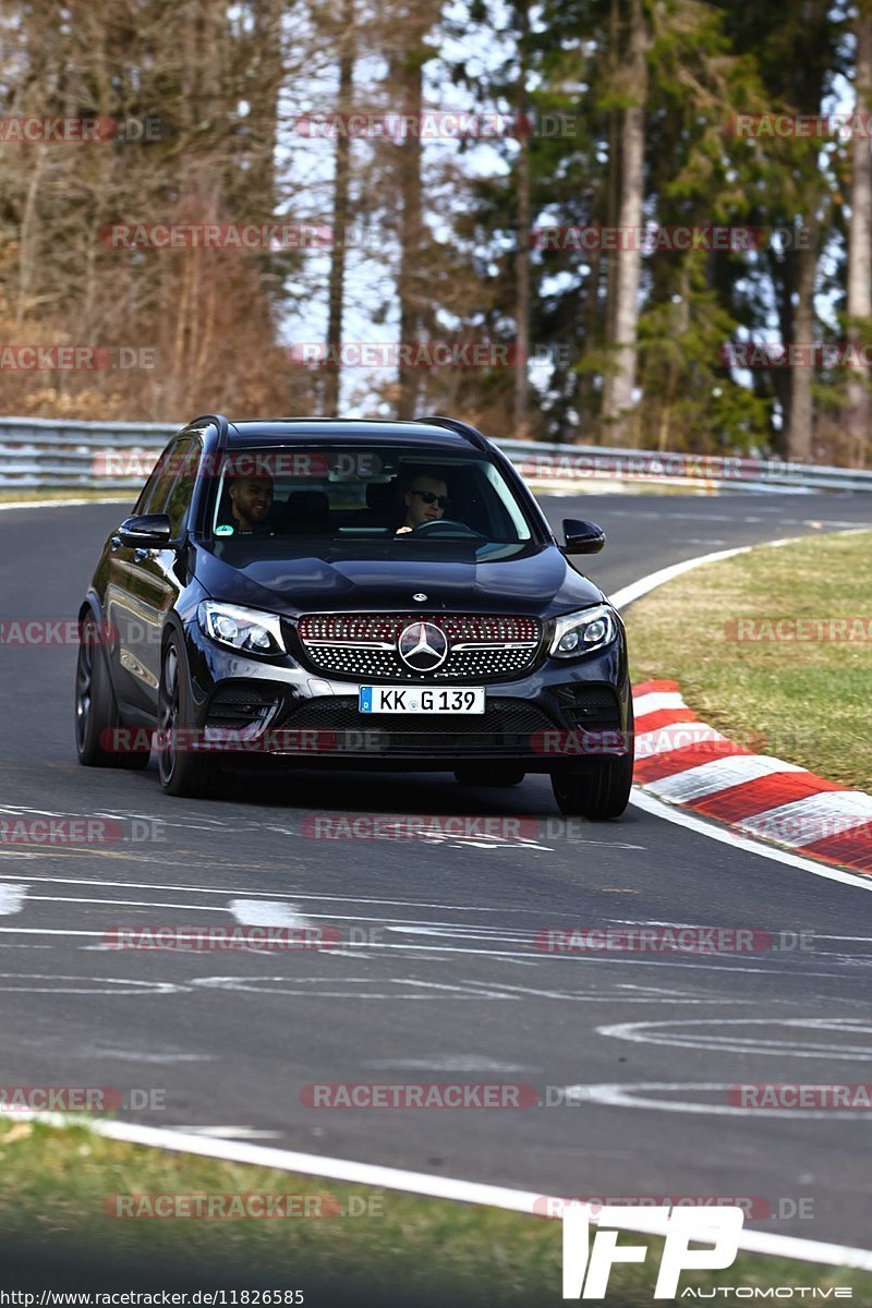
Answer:
<svg viewBox="0 0 872 1308"><path fill-rule="evenodd" d="M220 555L260 552L515 553L532 527L486 454L421 446L284 446L229 451L218 470L212 536Z"/></svg>

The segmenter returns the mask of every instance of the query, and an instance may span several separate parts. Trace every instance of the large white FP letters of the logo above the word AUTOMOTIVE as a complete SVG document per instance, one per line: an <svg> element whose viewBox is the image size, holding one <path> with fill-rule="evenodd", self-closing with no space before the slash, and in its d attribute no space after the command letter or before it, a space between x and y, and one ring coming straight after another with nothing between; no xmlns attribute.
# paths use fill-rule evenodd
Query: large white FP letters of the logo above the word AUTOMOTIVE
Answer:
<svg viewBox="0 0 872 1308"><path fill-rule="evenodd" d="M563 1299L604 1299L609 1273L616 1262L645 1262L647 1247L617 1243L617 1230L638 1230L639 1209L603 1205L591 1248L590 1207L570 1203L563 1211ZM675 1299L682 1271L722 1271L731 1267L739 1253L744 1220L740 1207L716 1209L651 1207L652 1230L665 1235L655 1299ZM690 1249L690 1241L711 1243L710 1249Z"/></svg>

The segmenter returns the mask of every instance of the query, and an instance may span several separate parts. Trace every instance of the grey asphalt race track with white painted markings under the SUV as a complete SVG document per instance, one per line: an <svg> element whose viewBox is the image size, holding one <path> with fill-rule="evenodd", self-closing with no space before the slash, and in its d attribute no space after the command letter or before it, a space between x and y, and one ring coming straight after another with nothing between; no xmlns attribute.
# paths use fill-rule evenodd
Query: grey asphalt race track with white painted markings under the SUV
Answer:
<svg viewBox="0 0 872 1308"><path fill-rule="evenodd" d="M709 549L872 515L869 497L837 494L544 504L554 523L603 523L609 544L590 573L607 591ZM75 617L122 517L112 505L0 513L0 617ZM447 774L278 773L209 802L169 799L154 765L77 765L75 654L1 653L0 816L122 819L127 836L132 819L140 836L157 820L163 838L4 846L5 1084L162 1091L162 1110L122 1116L543 1194L757 1197L771 1216L752 1230L872 1248L872 1110L778 1114L728 1095L872 1080L868 891L637 807L567 824L544 777L461 790ZM344 811L527 821L426 842L312 838L316 816ZM118 926L299 920L369 943L145 952L103 939ZM561 957L533 943L541 929L608 923L807 931L814 946L694 959ZM349 1082L524 1083L543 1107L305 1103L307 1084ZM578 1086L571 1101L560 1093Z"/></svg>

